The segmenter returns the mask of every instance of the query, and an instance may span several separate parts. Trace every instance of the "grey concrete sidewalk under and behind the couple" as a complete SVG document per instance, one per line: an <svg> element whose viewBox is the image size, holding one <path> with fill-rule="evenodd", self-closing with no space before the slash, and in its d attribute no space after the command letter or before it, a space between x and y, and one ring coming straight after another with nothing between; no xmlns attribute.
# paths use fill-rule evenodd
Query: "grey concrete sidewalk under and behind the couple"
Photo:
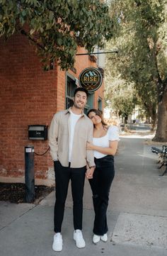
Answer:
<svg viewBox="0 0 167 256"><path fill-rule="evenodd" d="M153 145L153 144L152 144ZM109 240L92 243L93 207L86 180L83 234L86 247L73 240L71 189L67 198L62 252L52 250L54 192L40 204L0 202L0 255L165 256L167 255L167 175L159 177L149 139L122 137L115 157L115 179L108 206Z"/></svg>

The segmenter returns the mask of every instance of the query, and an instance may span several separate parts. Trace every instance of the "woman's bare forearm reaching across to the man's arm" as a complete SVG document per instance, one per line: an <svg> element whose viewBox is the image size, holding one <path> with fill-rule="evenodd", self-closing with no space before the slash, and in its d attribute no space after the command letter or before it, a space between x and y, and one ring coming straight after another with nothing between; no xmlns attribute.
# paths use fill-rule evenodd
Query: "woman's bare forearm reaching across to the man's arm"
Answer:
<svg viewBox="0 0 167 256"><path fill-rule="evenodd" d="M92 143L87 143L86 150L96 150L104 155L115 155L115 153L117 152L117 144L117 140L109 141L109 148L103 148L93 145Z"/></svg>

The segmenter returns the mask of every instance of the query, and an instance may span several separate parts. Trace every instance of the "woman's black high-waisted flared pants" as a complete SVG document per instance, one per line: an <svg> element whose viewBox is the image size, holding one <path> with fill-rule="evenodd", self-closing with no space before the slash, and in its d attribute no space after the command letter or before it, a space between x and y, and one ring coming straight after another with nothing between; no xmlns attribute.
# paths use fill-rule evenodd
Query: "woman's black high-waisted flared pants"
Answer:
<svg viewBox="0 0 167 256"><path fill-rule="evenodd" d="M95 220L93 233L104 235L108 232L107 208L110 187L115 176L114 157L106 155L102 158L95 158L96 169L93 179L89 179L93 193L93 207L95 211Z"/></svg>

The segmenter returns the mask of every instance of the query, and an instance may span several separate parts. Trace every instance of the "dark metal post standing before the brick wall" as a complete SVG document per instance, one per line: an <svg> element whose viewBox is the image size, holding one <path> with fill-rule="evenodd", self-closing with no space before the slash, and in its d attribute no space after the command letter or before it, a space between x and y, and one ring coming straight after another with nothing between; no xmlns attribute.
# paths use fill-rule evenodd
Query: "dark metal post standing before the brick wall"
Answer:
<svg viewBox="0 0 167 256"><path fill-rule="evenodd" d="M32 203L35 200L34 179L34 147L25 146L25 201Z"/></svg>

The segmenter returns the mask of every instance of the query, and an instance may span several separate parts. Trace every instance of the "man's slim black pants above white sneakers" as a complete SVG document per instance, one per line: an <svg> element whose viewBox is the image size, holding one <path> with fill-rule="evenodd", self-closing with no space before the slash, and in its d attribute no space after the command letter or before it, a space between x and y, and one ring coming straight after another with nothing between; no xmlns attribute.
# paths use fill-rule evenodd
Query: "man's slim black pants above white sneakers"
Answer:
<svg viewBox="0 0 167 256"><path fill-rule="evenodd" d="M73 198L74 230L82 229L83 195L86 167L63 167L59 161L54 161L56 180L56 202L54 205L54 232L60 233L64 217L64 206L67 199L69 180Z"/></svg>

